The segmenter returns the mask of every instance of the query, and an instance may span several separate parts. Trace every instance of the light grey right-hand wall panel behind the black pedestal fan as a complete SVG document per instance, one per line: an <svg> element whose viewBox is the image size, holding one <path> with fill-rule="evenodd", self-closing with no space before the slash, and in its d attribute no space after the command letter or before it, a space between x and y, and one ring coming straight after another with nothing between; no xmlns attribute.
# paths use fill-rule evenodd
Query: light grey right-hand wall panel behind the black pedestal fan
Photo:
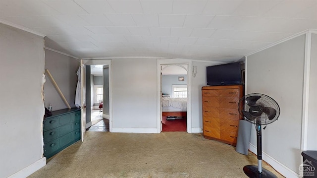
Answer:
<svg viewBox="0 0 317 178"><path fill-rule="evenodd" d="M301 164L301 129L305 35L247 58L247 93L263 93L280 106L277 121L263 130L263 152L298 173ZM252 127L251 144L256 144ZM265 159L264 159L265 160Z"/></svg>

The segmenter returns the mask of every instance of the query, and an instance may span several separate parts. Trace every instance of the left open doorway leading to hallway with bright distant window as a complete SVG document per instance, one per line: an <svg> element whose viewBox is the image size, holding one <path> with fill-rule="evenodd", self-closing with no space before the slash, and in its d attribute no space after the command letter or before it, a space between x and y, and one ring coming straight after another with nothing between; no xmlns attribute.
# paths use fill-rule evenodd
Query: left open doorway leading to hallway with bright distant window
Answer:
<svg viewBox="0 0 317 178"><path fill-rule="evenodd" d="M86 131L111 131L111 60L81 59L81 65L85 71L82 72L85 74L82 76L85 81L82 83L82 91L85 91L83 106L86 106L82 111L83 134Z"/></svg>

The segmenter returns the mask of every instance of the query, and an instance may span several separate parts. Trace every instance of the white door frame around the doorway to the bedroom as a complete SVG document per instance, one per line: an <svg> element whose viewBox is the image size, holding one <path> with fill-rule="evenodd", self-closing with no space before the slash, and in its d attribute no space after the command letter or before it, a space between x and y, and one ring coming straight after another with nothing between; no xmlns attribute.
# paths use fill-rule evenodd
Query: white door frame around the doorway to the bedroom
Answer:
<svg viewBox="0 0 317 178"><path fill-rule="evenodd" d="M192 133L192 60L190 59L158 59L157 60L157 133L161 132L162 121L162 91L161 91L161 65L187 64L187 123L186 130Z"/></svg>

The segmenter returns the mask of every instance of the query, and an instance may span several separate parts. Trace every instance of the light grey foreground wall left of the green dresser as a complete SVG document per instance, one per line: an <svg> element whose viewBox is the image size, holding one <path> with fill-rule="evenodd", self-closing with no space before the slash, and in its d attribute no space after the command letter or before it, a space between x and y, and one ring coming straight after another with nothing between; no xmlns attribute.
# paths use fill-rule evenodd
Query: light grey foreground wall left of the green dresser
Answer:
<svg viewBox="0 0 317 178"><path fill-rule="evenodd" d="M43 37L0 24L0 178L27 177L46 164L43 48Z"/></svg>

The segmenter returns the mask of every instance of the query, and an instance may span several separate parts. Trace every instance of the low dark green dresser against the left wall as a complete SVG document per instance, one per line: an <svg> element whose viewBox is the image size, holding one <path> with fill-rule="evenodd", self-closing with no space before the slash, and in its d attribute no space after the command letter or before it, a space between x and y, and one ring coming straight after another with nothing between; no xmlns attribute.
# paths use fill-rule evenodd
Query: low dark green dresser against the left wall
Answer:
<svg viewBox="0 0 317 178"><path fill-rule="evenodd" d="M81 139L81 111L77 108L53 111L43 121L44 156L50 158Z"/></svg>

